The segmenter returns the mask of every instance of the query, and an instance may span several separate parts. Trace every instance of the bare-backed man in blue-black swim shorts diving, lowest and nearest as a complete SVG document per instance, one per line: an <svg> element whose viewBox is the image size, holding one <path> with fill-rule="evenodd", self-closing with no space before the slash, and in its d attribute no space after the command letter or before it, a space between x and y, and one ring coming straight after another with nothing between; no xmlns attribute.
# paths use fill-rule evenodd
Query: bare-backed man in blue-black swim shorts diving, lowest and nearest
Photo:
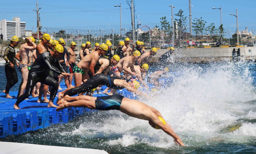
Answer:
<svg viewBox="0 0 256 154"><path fill-rule="evenodd" d="M147 120L152 127L156 128L158 126L166 134L172 136L175 143L185 146L180 137L174 133L171 126L167 122L163 123L160 121L160 118L162 119L163 117L159 111L137 100L128 99L118 94L106 97L90 97L84 95L70 97L66 95L57 104L60 105L56 109L57 111L71 106L87 107L97 110L119 110L131 117Z"/></svg>

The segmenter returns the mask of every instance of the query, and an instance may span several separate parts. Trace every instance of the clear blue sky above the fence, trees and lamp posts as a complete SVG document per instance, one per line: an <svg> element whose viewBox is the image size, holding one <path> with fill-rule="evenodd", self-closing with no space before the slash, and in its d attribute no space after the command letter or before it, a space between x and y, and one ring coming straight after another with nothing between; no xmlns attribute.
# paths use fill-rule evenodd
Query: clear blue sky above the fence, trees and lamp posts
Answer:
<svg viewBox="0 0 256 154"><path fill-rule="evenodd" d="M10 3L11 2L11 3ZM41 25L43 27L77 27L91 26L97 28L101 25L115 25L113 27L120 31L120 5L122 8L122 25L131 25L131 12L126 0L62 0L49 1L38 0L40 9ZM188 17L189 27L189 0L134 0L135 3L135 25L138 22L141 26L153 27L160 23L160 18L166 16L171 23L171 7L173 14L180 9ZM214 23L220 25L220 10L213 10L212 7L222 7L222 23L226 31L236 31L236 17L229 13L236 14L238 9L239 30L256 30L255 6L256 0L191 0L192 21L194 18L202 17L207 23L206 26ZM36 1L33 0L1 0L0 18L12 20L12 17L20 17L26 22L26 30L36 31ZM174 18L176 18L174 16ZM109 26L110 29L112 26ZM137 27L137 26L135 26ZM188 28L189 31L189 28Z"/></svg>

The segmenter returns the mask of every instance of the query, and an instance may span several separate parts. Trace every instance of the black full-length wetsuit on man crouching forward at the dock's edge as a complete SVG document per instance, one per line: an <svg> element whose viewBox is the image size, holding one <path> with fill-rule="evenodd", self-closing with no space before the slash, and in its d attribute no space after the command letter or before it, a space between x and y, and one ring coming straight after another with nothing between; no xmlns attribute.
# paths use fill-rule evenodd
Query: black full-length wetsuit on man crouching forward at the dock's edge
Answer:
<svg viewBox="0 0 256 154"><path fill-rule="evenodd" d="M57 66L59 70L53 67L53 64L55 64L55 66ZM55 81L52 76L48 75L48 69L58 74L60 74L61 72L65 72L60 66L60 62L58 59L55 60L55 58L52 58L50 52L44 52L36 58L35 62L31 66L28 72L28 83L25 93L21 95L16 101L17 105L19 105L20 102L22 102L24 99L28 98L31 95L31 92L37 82L52 86L52 90L50 92L50 101L53 102L58 91L58 82Z"/></svg>

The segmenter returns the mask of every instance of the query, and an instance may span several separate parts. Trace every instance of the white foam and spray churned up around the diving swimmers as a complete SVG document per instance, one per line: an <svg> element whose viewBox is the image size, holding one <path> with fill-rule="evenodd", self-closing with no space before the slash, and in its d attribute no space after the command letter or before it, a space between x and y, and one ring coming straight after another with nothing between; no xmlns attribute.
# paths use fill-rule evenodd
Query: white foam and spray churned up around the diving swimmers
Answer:
<svg viewBox="0 0 256 154"><path fill-rule="evenodd" d="M188 65L178 70L182 70L176 72L180 76L173 77L173 83L167 89L161 89L143 102L159 110L186 145L194 146L198 142L216 140L216 137L232 142L232 135L256 136L252 123L242 123L234 133L220 131L241 118L256 118L255 110L252 110L255 103L248 103L256 96L246 63L219 63L204 68ZM95 117L95 121L81 124L72 133L116 135L118 137L110 138L106 143L124 147L137 143L159 148L175 145L172 137L151 128L147 121L124 116L119 111L100 111L98 114L104 120Z"/></svg>

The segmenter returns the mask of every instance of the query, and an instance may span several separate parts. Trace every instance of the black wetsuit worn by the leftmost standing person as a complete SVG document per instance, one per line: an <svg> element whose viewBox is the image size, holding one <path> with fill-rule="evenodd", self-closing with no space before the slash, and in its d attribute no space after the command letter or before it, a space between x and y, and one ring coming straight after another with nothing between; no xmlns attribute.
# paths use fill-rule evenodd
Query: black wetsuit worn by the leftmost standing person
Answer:
<svg viewBox="0 0 256 154"><path fill-rule="evenodd" d="M5 48L4 51L4 60L5 62L5 75L6 75L6 86L5 86L5 93L9 93L10 89L18 82L18 75L15 69L16 59L15 59L15 49L9 45ZM10 63L14 65L14 68L11 68Z"/></svg>

